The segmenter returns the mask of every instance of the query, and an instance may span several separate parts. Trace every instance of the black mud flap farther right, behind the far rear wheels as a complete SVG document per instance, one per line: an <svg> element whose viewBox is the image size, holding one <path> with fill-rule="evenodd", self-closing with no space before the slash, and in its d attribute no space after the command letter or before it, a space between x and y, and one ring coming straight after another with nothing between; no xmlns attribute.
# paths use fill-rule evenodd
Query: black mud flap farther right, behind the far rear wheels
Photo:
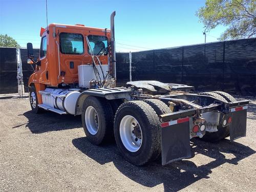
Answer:
<svg viewBox="0 0 256 192"><path fill-rule="evenodd" d="M230 109L232 122L229 125L230 140L246 136L247 105Z"/></svg>

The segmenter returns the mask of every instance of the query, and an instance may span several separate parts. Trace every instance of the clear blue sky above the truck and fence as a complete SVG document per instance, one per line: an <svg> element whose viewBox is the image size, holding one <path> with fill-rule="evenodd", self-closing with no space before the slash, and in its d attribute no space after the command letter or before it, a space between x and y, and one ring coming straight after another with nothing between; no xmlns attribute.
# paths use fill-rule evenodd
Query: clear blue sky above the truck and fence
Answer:
<svg viewBox="0 0 256 192"><path fill-rule="evenodd" d="M115 10L117 51L160 49L204 42L203 24L195 15L204 4L205 0L48 0L48 23L110 28ZM46 27L45 0L0 0L0 34L12 36L22 47L32 42L39 48L40 27ZM206 41L218 41L224 30L210 31Z"/></svg>

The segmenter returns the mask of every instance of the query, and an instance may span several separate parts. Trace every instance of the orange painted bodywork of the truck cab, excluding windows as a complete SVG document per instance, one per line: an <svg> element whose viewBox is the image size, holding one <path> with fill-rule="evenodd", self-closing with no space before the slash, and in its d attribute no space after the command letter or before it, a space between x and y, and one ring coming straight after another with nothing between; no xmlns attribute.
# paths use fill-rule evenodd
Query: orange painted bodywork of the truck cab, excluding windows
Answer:
<svg viewBox="0 0 256 192"><path fill-rule="evenodd" d="M91 55L88 53L88 45L86 36L100 35L108 37L110 41L110 30L92 28L78 25L61 25L50 24L48 26L49 33L41 28L40 36L47 36L46 56L38 58L40 66L36 67L35 74L29 78L30 83L43 83L51 87L58 87L60 83L78 83L78 66L92 63ZM62 54L60 52L60 33L79 33L83 36L83 49L81 55ZM108 65L108 55L101 55L100 61L102 65ZM36 60L36 58L35 58ZM72 63L72 64L71 64ZM70 66L73 67L70 67ZM62 71L62 76L60 72ZM65 75L63 75L65 72ZM38 96L39 98L39 96Z"/></svg>

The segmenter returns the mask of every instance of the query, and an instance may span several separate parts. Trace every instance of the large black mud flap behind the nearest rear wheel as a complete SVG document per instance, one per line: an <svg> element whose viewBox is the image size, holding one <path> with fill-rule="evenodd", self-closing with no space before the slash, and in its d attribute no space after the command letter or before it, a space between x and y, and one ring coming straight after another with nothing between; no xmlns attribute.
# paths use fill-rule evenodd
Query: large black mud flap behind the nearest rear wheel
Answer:
<svg viewBox="0 0 256 192"><path fill-rule="evenodd" d="M162 165L191 157L189 129L192 118L186 117L161 124Z"/></svg>

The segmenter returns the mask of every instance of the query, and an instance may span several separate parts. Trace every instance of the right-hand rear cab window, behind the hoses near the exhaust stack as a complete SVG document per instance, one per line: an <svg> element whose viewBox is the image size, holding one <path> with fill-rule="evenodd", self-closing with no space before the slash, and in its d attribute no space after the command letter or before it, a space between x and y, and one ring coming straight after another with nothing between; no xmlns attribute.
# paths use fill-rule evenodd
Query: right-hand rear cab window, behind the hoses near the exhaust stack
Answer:
<svg viewBox="0 0 256 192"><path fill-rule="evenodd" d="M89 35L88 39L94 55L101 55L104 49L108 47L108 38L106 36ZM89 47L88 53L92 54Z"/></svg>

